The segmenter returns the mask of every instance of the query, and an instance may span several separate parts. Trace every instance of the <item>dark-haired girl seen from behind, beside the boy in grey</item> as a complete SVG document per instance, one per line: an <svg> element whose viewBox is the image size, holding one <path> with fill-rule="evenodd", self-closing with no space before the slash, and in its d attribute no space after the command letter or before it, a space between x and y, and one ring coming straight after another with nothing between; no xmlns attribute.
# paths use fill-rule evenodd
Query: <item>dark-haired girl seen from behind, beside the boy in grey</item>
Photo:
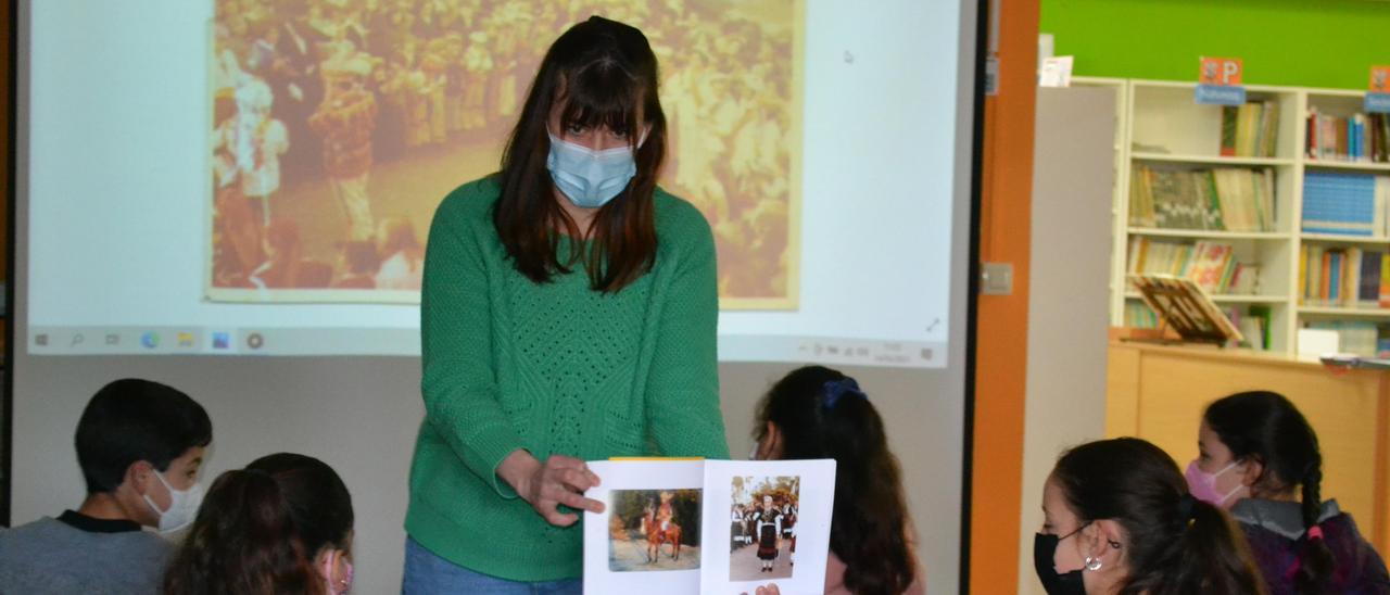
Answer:
<svg viewBox="0 0 1390 595"><path fill-rule="evenodd" d="M332 467L303 455L260 457L213 482L164 592L345 594L352 524L352 496Z"/></svg>

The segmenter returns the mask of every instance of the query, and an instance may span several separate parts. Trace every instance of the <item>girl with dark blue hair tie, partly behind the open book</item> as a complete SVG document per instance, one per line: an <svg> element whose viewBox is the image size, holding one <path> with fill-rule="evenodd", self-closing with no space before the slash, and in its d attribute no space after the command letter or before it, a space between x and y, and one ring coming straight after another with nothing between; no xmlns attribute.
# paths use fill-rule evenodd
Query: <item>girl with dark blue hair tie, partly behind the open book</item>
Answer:
<svg viewBox="0 0 1390 595"><path fill-rule="evenodd" d="M753 437L755 459L835 459L826 594L926 592L898 457L853 378L821 366L794 370L763 396ZM781 519L770 499L763 506L764 514ZM781 527L769 527L769 539L755 535L763 557L763 544L780 539Z"/></svg>

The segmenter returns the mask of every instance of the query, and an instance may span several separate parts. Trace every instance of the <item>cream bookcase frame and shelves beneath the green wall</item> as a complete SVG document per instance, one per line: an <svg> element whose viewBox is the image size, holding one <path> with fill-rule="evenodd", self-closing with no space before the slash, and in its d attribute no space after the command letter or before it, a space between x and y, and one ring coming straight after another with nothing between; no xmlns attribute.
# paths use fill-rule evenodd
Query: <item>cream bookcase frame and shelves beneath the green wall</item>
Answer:
<svg viewBox="0 0 1390 595"><path fill-rule="evenodd" d="M1297 329L1305 321L1371 320L1390 324L1390 309L1323 307L1300 304L1298 256L1304 245L1383 249L1387 236L1351 236L1301 232L1302 182L1307 171L1344 171L1390 175L1390 164L1309 158L1305 152L1307 117L1318 113L1346 117L1359 113L1365 93L1346 89L1294 86L1245 88L1250 101L1273 101L1279 107L1272 157L1227 157L1220 154L1222 114L1219 106L1194 101L1195 83L1143 79L1073 78L1073 85L1105 86L1116 92L1122 106L1115 143L1113 250L1111 264L1111 323L1125 323L1126 304L1138 296L1126 282L1129 247L1133 238L1165 242L1213 241L1230 243L1238 261L1258 263L1258 295L1215 295L1218 303L1266 306L1270 311L1270 350L1295 353ZM1275 231L1233 232L1131 227L1130 181L1137 165L1163 168L1251 168L1272 170L1275 178Z"/></svg>

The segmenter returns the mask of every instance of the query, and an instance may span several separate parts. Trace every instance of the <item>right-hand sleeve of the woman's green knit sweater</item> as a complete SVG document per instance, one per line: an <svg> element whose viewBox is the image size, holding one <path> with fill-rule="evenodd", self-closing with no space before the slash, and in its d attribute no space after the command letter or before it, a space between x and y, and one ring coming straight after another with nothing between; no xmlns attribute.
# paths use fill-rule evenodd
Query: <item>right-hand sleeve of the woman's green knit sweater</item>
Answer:
<svg viewBox="0 0 1390 595"><path fill-rule="evenodd" d="M724 418L719 411L719 289L714 236L694 207L692 231L671 263L656 325L646 416L664 456L728 459ZM662 266L662 263L657 263Z"/></svg>

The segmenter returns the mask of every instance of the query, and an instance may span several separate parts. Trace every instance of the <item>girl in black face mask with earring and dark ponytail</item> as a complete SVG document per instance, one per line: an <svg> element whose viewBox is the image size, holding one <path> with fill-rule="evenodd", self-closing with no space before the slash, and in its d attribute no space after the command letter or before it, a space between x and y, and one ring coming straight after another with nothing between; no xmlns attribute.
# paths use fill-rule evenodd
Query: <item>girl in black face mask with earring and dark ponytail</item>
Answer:
<svg viewBox="0 0 1390 595"><path fill-rule="evenodd" d="M1042 488L1033 562L1048 594L1264 594L1245 541L1187 494L1152 443L1115 438L1062 455Z"/></svg>

